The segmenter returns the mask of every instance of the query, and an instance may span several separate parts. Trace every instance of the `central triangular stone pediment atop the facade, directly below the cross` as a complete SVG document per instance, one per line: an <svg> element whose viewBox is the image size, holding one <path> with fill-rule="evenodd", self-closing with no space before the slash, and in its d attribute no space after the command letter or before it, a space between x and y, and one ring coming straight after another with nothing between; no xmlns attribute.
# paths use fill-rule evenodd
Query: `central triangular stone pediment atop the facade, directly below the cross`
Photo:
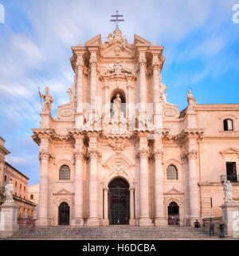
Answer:
<svg viewBox="0 0 239 256"><path fill-rule="evenodd" d="M131 48L131 45L126 43L125 48L122 49L121 41L114 41L112 45L108 45L108 47L101 49L102 57L133 57L134 51Z"/></svg>

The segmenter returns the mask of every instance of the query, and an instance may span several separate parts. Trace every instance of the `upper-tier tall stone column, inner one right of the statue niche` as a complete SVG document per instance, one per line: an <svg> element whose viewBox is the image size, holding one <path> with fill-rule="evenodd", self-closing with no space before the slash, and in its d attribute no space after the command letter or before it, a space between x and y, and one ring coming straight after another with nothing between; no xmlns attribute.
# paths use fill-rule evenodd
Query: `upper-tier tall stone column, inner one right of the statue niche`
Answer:
<svg viewBox="0 0 239 256"><path fill-rule="evenodd" d="M141 120L146 120L146 101L147 101L147 92L146 92L146 57L145 52L139 53L139 91L140 91L140 109L139 116ZM141 122L139 122L140 124ZM141 124L141 129L144 129L144 124Z"/></svg>

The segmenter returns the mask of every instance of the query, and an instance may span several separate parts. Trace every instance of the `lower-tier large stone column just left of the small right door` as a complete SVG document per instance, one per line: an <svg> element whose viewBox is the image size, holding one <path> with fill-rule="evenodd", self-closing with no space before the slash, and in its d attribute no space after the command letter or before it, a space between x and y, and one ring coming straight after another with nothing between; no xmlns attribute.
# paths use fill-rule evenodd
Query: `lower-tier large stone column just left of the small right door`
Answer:
<svg viewBox="0 0 239 256"><path fill-rule="evenodd" d="M155 226L167 226L163 203L163 151L155 148Z"/></svg>

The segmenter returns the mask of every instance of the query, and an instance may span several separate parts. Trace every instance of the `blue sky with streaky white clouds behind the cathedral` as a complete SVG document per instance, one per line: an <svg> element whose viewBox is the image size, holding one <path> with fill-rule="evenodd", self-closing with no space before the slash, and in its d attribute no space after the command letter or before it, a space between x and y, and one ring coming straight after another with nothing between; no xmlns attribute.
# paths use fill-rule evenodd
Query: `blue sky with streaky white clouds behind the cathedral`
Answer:
<svg viewBox="0 0 239 256"><path fill-rule="evenodd" d="M66 91L73 83L71 46L99 33L105 41L115 30L109 20L116 10L123 14L119 29L129 43L136 33L165 46L161 75L168 102L181 111L187 89L192 89L198 104L238 104L237 3L0 0L5 10L5 23L0 23L0 136L11 152L6 161L29 177L29 185L38 183L38 146L31 138L31 128L40 126L38 87L41 92L49 87L56 118L57 106L69 101Z"/></svg>

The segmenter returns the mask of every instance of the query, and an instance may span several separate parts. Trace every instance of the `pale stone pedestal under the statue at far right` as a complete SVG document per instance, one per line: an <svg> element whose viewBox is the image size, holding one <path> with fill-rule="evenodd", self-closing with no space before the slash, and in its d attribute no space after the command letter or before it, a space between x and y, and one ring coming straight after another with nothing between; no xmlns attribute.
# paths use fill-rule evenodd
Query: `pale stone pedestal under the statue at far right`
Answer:
<svg viewBox="0 0 239 256"><path fill-rule="evenodd" d="M227 234L239 238L239 205L235 202L223 203L221 211L222 220L227 226Z"/></svg>

